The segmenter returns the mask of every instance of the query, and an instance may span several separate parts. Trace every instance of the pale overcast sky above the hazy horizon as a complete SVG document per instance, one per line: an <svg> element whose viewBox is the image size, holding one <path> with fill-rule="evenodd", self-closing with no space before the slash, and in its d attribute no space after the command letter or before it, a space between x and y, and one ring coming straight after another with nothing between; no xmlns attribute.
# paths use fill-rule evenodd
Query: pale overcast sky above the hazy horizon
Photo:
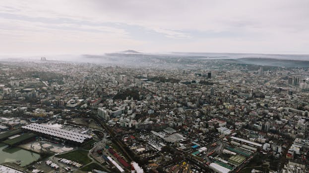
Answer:
<svg viewBox="0 0 309 173"><path fill-rule="evenodd" d="M309 54L309 0L1 0L0 54Z"/></svg>

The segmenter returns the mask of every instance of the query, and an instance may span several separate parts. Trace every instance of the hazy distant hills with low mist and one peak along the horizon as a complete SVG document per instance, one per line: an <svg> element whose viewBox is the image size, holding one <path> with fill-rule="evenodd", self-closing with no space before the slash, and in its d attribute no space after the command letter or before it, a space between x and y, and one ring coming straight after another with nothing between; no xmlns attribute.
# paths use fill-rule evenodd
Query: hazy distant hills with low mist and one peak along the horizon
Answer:
<svg viewBox="0 0 309 173"><path fill-rule="evenodd" d="M309 67L309 55L249 53L141 53L135 50L83 55L85 61L139 66L191 68L195 63L221 62L276 67Z"/></svg>

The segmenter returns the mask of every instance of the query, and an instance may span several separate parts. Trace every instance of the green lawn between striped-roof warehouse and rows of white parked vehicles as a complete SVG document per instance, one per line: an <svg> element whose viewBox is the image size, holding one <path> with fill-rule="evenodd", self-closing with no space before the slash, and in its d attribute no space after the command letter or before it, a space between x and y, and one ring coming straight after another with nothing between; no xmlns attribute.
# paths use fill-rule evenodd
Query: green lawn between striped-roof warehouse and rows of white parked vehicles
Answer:
<svg viewBox="0 0 309 173"><path fill-rule="evenodd" d="M85 150L75 150L68 153L60 154L58 158L64 158L71 161L78 162L80 164L86 165L91 162L91 159L87 156L88 151Z"/></svg>

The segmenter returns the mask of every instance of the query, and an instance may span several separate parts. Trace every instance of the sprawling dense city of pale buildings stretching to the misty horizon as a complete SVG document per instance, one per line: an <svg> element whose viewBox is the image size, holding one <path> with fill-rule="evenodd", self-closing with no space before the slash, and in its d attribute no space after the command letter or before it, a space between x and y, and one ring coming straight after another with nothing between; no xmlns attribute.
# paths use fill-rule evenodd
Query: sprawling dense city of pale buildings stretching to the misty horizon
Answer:
<svg viewBox="0 0 309 173"><path fill-rule="evenodd" d="M1 61L0 169L308 171L309 68L158 59L174 67Z"/></svg>

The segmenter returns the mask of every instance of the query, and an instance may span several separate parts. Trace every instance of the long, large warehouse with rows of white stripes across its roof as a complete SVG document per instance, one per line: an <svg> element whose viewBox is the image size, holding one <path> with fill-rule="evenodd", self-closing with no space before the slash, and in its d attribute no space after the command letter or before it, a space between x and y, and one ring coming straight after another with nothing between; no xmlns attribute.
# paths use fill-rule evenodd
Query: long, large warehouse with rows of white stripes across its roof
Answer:
<svg viewBox="0 0 309 173"><path fill-rule="evenodd" d="M21 128L24 130L30 130L43 135L47 135L49 137L53 137L58 140L65 140L77 144L82 144L85 141L88 141L89 139L92 138L92 136L90 135L75 133L72 131L53 128L45 125L40 125L37 123L32 123L27 126L23 126Z"/></svg>

